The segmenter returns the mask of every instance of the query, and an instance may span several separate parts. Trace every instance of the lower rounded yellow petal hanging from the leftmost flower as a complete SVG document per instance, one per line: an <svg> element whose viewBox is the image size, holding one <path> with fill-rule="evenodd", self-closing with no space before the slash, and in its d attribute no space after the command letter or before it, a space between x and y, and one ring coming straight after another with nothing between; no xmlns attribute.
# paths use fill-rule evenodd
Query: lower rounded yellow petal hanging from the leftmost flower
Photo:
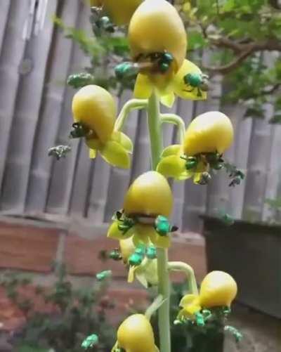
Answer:
<svg viewBox="0 0 281 352"><path fill-rule="evenodd" d="M100 155L108 164L122 169L129 169L131 160L128 152L119 143L108 141L100 150Z"/></svg>

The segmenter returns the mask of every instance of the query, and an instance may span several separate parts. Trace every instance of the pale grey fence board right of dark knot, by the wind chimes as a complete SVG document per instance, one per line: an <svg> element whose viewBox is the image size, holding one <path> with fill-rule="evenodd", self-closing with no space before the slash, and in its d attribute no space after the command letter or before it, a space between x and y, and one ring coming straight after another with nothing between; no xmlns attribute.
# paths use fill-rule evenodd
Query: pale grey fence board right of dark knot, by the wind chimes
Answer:
<svg viewBox="0 0 281 352"><path fill-rule="evenodd" d="M55 13L56 5L56 1L48 2L48 18ZM3 209L20 212L25 209L34 134L52 33L53 22L46 21L39 35L32 36L27 42L24 60L30 60L32 67L22 76L18 87L2 192Z"/></svg>

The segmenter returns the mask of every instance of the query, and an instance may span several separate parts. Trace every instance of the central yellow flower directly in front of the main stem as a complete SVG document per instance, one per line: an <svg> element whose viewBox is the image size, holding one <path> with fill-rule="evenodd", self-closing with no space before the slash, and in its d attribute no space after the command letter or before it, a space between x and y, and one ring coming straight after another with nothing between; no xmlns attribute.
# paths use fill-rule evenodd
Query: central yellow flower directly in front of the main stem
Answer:
<svg viewBox="0 0 281 352"><path fill-rule="evenodd" d="M125 240L132 237L133 244L150 245L167 248L171 239L169 235L159 235L155 228L157 216L170 216L173 207L173 196L166 178L157 171L148 171L138 176L129 187L124 199L124 215L137 218L126 232L120 230L119 220L110 226L107 237Z"/></svg>

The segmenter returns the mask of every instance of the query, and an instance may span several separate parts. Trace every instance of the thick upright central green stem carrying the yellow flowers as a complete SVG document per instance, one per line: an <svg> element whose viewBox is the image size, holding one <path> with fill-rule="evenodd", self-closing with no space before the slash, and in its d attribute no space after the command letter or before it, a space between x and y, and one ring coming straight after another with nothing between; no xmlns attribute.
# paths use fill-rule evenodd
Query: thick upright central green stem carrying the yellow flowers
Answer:
<svg viewBox="0 0 281 352"><path fill-rule="evenodd" d="M148 100L148 129L150 133L152 169L155 170L163 150L159 99L155 93L152 93ZM164 300L158 311L160 351L171 352L170 282L167 249L157 248L157 271L159 279L158 294L162 295Z"/></svg>

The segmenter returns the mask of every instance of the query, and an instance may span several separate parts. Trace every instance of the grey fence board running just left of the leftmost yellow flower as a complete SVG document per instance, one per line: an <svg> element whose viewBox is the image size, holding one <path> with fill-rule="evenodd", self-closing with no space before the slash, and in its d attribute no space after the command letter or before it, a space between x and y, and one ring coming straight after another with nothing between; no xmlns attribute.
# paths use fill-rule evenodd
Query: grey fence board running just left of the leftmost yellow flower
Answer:
<svg viewBox="0 0 281 352"><path fill-rule="evenodd" d="M66 25L75 26L78 8L79 3L77 1L70 1L67 6L63 4L59 15ZM56 27L48 57L45 89L35 134L26 202L28 213L42 213L45 211L52 165L53 162L56 162L52 157L48 157L48 148L55 145L58 134L72 47L73 42L66 39L63 32Z"/></svg>

